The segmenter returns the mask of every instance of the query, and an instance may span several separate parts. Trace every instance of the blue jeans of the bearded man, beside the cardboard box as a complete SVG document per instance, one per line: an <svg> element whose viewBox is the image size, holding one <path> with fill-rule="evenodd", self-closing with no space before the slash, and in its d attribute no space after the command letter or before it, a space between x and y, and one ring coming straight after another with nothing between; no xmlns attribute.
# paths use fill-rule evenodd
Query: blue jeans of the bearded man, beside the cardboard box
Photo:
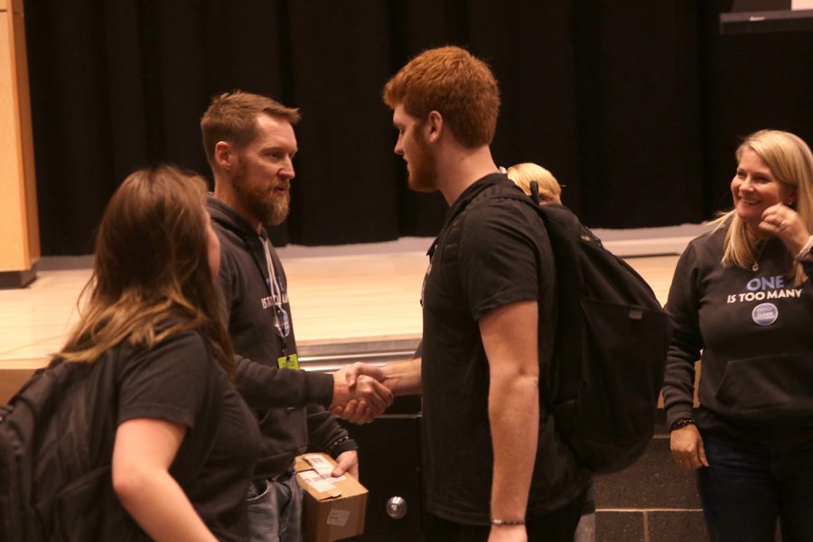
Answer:
<svg viewBox="0 0 813 542"><path fill-rule="evenodd" d="M293 469L274 480L256 480L248 486L250 542L300 542L302 489Z"/></svg>

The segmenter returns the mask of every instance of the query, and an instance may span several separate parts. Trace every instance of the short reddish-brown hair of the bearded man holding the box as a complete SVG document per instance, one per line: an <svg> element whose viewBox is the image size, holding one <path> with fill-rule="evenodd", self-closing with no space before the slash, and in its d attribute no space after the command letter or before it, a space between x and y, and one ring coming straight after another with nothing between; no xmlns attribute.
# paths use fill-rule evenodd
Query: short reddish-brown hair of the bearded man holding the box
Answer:
<svg viewBox="0 0 813 542"><path fill-rule="evenodd" d="M286 120L291 125L300 119L299 109L242 90L213 98L201 118L203 150L209 164L214 164L214 147L219 141L227 141L238 150L245 148L257 135L257 115L261 113Z"/></svg>

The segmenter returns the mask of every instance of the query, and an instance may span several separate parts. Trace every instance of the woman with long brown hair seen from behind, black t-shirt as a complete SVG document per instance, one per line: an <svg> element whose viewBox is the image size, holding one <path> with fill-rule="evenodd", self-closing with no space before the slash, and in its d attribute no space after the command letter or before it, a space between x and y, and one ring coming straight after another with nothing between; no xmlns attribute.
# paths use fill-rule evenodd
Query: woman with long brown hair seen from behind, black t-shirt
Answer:
<svg viewBox="0 0 813 542"><path fill-rule="evenodd" d="M257 423L232 386L201 178L137 171L107 204L80 321L58 357L113 364L112 483L155 540L241 540Z"/></svg>

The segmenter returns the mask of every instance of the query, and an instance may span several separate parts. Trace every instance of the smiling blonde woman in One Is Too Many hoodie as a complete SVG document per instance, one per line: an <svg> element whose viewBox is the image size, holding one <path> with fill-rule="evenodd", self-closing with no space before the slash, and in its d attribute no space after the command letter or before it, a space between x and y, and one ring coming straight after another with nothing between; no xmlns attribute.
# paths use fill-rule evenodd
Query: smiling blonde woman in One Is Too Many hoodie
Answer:
<svg viewBox="0 0 813 542"><path fill-rule="evenodd" d="M734 210L680 257L667 310L672 458L697 471L712 540L813 540L813 155L761 130L736 152ZM693 409L695 361L703 363Z"/></svg>

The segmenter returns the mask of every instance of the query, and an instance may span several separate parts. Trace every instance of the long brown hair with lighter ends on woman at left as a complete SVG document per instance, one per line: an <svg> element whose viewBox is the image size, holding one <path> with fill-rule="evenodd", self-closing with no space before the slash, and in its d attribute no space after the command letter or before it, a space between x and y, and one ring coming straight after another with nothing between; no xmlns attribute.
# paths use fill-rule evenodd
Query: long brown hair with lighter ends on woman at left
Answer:
<svg viewBox="0 0 813 542"><path fill-rule="evenodd" d="M154 346L198 329L230 378L234 356L220 317L206 244L206 182L173 166L129 175L107 203L79 322L58 356L94 362L122 341ZM169 323L161 332L156 328Z"/></svg>

